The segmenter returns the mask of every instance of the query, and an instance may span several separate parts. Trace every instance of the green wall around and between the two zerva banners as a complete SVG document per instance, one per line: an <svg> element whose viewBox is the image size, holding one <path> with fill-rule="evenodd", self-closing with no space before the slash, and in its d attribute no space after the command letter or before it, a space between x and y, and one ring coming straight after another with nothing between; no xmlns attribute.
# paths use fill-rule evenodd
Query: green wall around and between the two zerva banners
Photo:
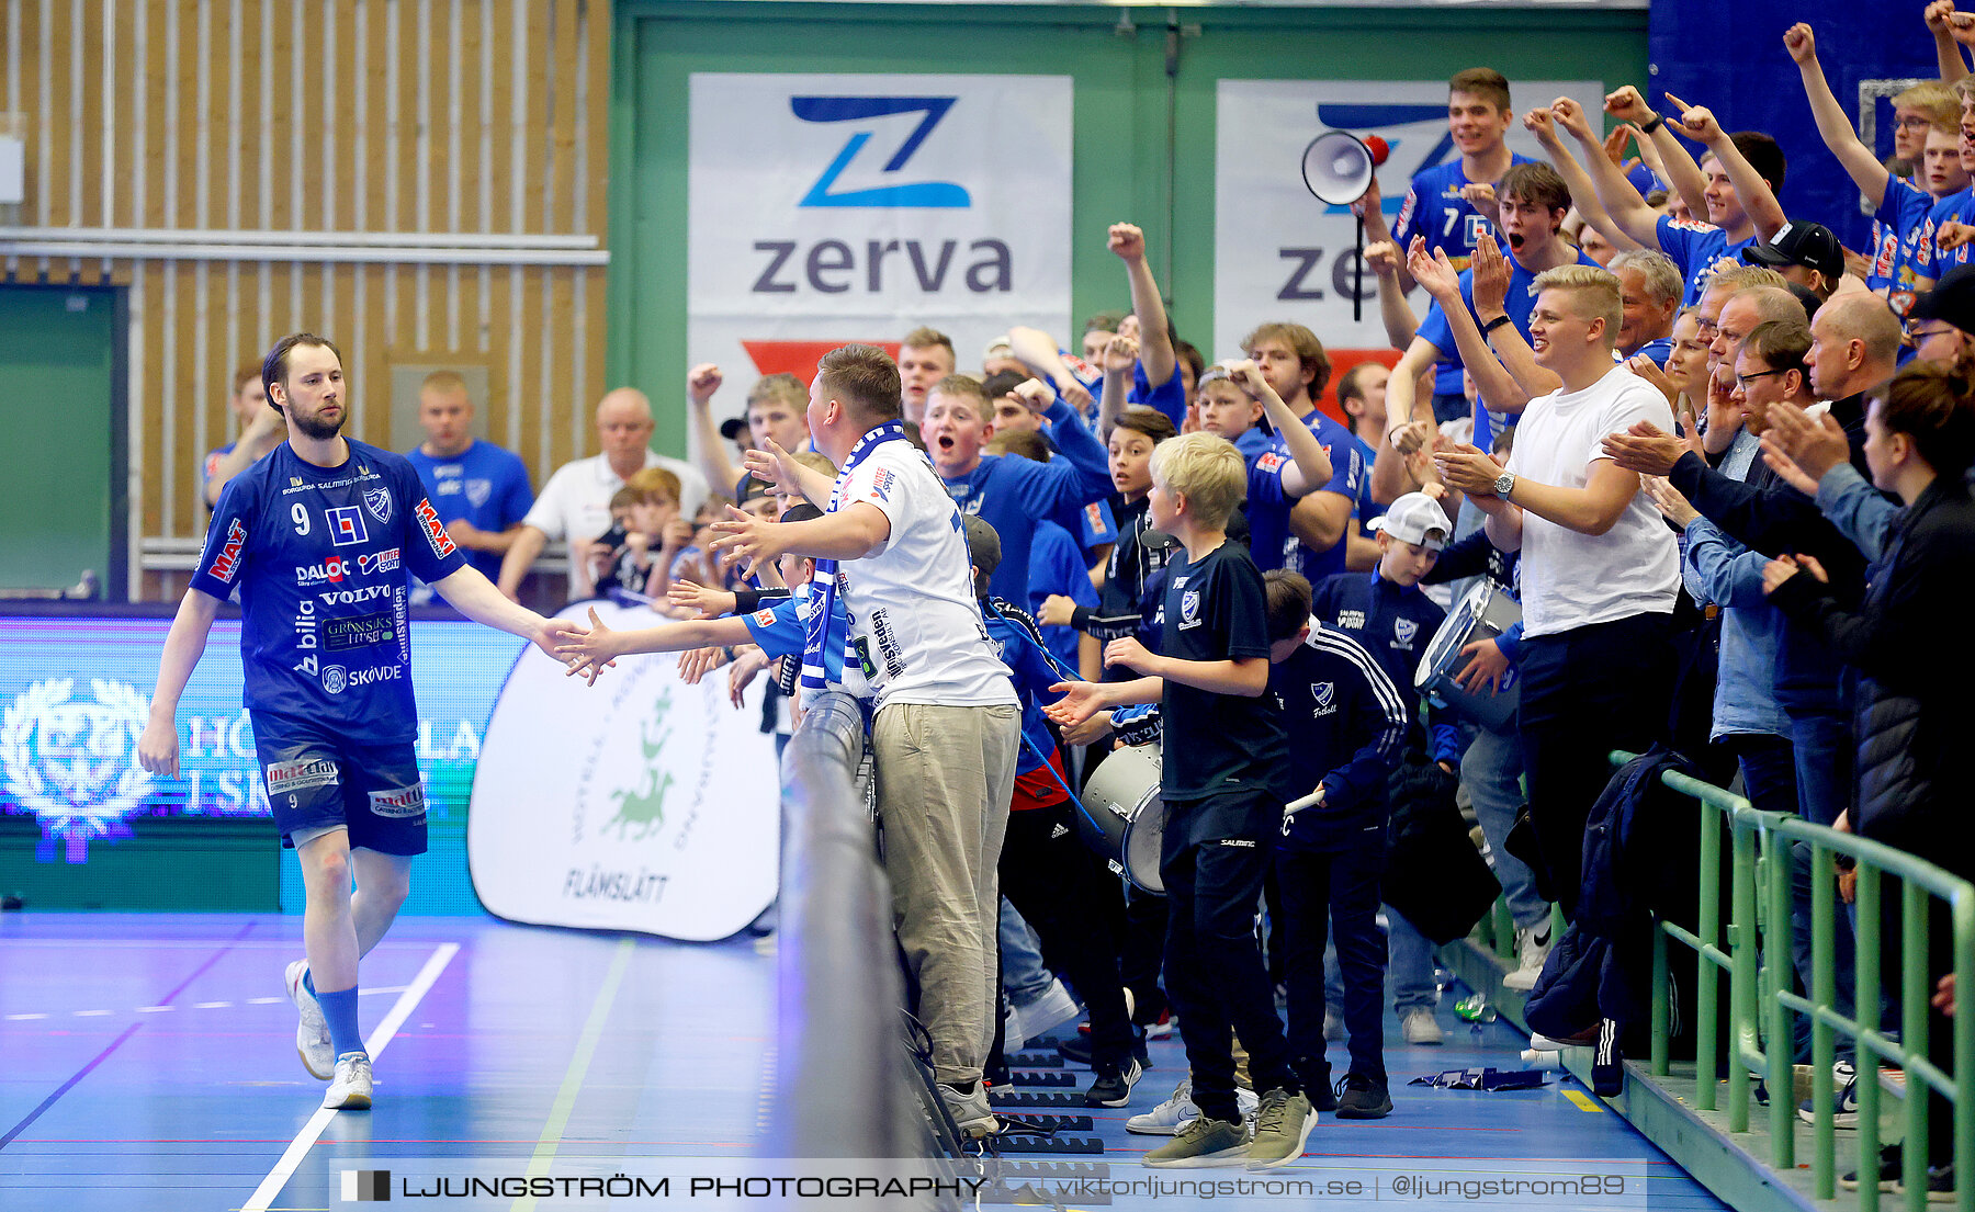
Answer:
<svg viewBox="0 0 1975 1212"><path fill-rule="evenodd" d="M1106 225L1146 229L1181 336L1213 332L1215 83L1645 81L1645 10L1432 12L1096 4L618 6L610 81L612 383L670 399L685 375L687 75L693 71L1043 73L1076 79L1072 314L1124 306ZM1177 22L1175 24L1169 24ZM1519 105L1539 99L1517 99ZM1548 101L1546 97L1540 101ZM1390 189L1390 184L1388 184ZM1177 235L1175 235L1177 233ZM683 415L660 411L662 448Z"/></svg>

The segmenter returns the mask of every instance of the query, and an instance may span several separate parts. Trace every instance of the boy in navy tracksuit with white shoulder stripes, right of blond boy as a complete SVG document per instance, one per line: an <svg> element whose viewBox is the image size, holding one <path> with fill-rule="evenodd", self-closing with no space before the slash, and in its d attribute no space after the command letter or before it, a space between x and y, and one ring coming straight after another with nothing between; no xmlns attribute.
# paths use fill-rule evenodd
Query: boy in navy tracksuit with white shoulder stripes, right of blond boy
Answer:
<svg viewBox="0 0 1975 1212"><path fill-rule="evenodd" d="M1290 989L1290 1056L1319 1111L1377 1119L1392 1111L1384 1078L1384 938L1379 878L1384 872L1386 776L1406 734L1406 707L1379 661L1309 614L1309 582L1268 572L1268 689L1290 740L1284 799L1319 799L1284 815L1276 841L1284 973ZM1345 981L1351 1070L1331 1092L1323 1058L1325 922L1337 928Z"/></svg>

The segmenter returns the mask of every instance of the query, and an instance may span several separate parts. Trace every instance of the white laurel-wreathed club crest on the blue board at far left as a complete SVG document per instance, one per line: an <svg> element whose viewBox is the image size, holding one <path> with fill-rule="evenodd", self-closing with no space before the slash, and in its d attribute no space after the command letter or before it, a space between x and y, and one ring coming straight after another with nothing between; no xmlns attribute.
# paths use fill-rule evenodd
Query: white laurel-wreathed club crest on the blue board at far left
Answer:
<svg viewBox="0 0 1975 1212"><path fill-rule="evenodd" d="M69 847L71 863L91 839L120 833L152 790L136 764L150 703L120 681L91 679L89 689L95 699L77 701L75 679L38 681L0 715L0 786Z"/></svg>

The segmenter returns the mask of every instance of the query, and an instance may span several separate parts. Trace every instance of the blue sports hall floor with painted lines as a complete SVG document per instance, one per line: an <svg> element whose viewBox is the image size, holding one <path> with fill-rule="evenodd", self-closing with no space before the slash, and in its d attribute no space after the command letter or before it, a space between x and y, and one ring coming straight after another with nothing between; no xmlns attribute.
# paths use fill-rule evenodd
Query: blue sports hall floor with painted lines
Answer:
<svg viewBox="0 0 1975 1212"><path fill-rule="evenodd" d="M405 918L363 961L377 1103L344 1113L316 1111L322 1084L294 1052L282 965L298 955L298 918L0 916L0 1210L338 1210L354 1208L346 1171L389 1169L393 1159L401 1173L419 1169L413 1159L460 1159L488 1163L488 1173L610 1174L610 1167L636 1173L648 1157L743 1157L764 1147L774 959L749 940L687 946L486 918ZM1404 1086L1448 1068L1523 1068L1523 1038L1505 1024L1456 1021L1454 997L1442 1003L1446 1046L1388 1044L1390 1119L1325 1117L1302 1163L1270 1176L1359 1182L1369 1192L1319 1194L1339 1206L1373 1198L1722 1206L1570 1078L1513 1094ZM1396 1023L1386 1038L1398 1038ZM1341 1062L1341 1046L1335 1052ZM1185 1072L1177 1036L1153 1042L1151 1060L1130 1107L1066 1111L1092 1115L1084 1135L1104 1141L1102 1157L1037 1161L1104 1163L1114 1178L1240 1178L1238 1169L1138 1165L1161 1139L1128 1135L1124 1121L1171 1094ZM1076 1074L1078 1090L1088 1080L1065 1072ZM1621 1176L1621 1194L1489 1196L1458 1186L1578 1174ZM1442 1180L1456 1186L1436 1186ZM612 1206L433 1200L436 1208L537 1204ZM1118 1196L1110 1206L1175 1204Z"/></svg>

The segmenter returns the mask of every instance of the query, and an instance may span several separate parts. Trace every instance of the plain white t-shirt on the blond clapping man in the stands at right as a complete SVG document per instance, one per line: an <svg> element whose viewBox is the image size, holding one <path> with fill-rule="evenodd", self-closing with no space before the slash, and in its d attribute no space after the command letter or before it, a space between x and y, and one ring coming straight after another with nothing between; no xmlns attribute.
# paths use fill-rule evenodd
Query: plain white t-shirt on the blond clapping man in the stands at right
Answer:
<svg viewBox="0 0 1975 1212"><path fill-rule="evenodd" d="M1529 403L1515 430L1509 470L1537 484L1584 488L1600 442L1651 420L1673 432L1667 397L1627 369L1606 371L1584 391ZM1681 555L1645 492L1633 493L1604 535L1584 535L1523 513L1523 636L1554 636L1633 614L1673 614Z"/></svg>

